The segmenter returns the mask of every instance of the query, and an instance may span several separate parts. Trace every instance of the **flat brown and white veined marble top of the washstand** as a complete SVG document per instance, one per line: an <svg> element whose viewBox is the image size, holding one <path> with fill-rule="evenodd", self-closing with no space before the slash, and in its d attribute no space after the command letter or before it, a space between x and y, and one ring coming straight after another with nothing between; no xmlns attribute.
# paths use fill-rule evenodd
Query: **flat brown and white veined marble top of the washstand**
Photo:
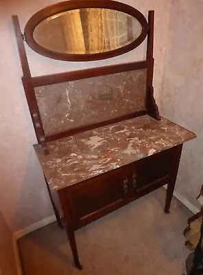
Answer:
<svg viewBox="0 0 203 275"><path fill-rule="evenodd" d="M195 137L165 118L124 120L48 143L49 155L34 149L52 190L60 190Z"/></svg>

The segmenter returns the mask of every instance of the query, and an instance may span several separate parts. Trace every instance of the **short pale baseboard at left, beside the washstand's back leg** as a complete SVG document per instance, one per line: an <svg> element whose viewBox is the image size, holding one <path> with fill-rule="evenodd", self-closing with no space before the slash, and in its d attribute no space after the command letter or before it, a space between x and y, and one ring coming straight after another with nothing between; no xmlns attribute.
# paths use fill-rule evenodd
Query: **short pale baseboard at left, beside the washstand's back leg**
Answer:
<svg viewBox="0 0 203 275"><path fill-rule="evenodd" d="M52 215L51 217L47 217L45 219L42 219L41 221L33 223L32 225L29 225L27 228L23 228L22 230L14 232L14 234L13 234L14 239L17 241L18 239L21 239L22 236L25 236L35 230L43 228L44 226L48 225L49 223L53 223L53 221L56 221L55 215Z"/></svg>

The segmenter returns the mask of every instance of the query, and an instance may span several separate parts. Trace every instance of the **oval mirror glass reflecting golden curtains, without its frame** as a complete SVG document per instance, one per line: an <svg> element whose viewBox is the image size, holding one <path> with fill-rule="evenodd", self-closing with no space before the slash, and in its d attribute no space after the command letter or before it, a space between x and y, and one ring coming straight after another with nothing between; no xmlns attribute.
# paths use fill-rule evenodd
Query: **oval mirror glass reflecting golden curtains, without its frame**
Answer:
<svg viewBox="0 0 203 275"><path fill-rule="evenodd" d="M130 14L80 8L41 21L34 29L34 40L47 50L63 54L98 54L132 43L141 32L141 23Z"/></svg>

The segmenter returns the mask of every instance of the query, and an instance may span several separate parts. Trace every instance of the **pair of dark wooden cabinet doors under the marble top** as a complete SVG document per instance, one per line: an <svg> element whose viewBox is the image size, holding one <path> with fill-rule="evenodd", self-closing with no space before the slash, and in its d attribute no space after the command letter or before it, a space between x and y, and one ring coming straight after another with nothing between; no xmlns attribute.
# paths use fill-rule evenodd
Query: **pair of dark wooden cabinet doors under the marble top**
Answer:
<svg viewBox="0 0 203 275"><path fill-rule="evenodd" d="M169 183L174 151L171 148L70 186L75 229Z"/></svg>

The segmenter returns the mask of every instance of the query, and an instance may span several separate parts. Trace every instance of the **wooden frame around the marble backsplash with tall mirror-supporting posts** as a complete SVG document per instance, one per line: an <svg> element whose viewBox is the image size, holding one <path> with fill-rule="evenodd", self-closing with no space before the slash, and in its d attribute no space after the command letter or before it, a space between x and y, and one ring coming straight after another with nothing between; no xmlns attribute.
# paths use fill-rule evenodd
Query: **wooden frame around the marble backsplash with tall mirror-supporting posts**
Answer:
<svg viewBox="0 0 203 275"><path fill-rule="evenodd" d="M154 47L154 11L150 11L148 14L148 27L149 31L147 33L147 57L145 61L126 63L121 65L112 65L105 67L97 67L93 69L83 69L74 72L64 72L61 74L51 74L45 76L32 77L29 63L27 61L27 54L25 52L25 45L23 42L23 34L21 32L21 27L19 24L19 19L17 16L12 16L12 21L14 25L14 31L16 34L16 41L19 49L19 56L21 59L21 67L23 70L22 82L25 89L25 95L27 98L27 103L29 105L29 111L32 117L32 122L34 124L34 129L36 132L36 137L38 144L43 148L45 154L49 153L47 142L53 140L58 140L62 137L67 137L69 135L74 135L75 133L81 133L83 131L88 131L95 129L100 126L112 124L122 120L127 120L130 118L136 118L141 115L150 115L156 120L160 120L158 113L158 107L154 100L154 89L153 89L153 72L154 72L154 57L153 57L153 47ZM45 135L42 120L40 118L40 111L38 109L38 104L36 100L36 95L34 92L35 87L42 85L50 85L55 83L62 83L69 80L76 80L82 78L91 78L94 76L104 76L107 74L116 74L119 72L128 72L134 69L147 69L147 85L146 85L146 98L145 106L146 108L141 111L136 111L128 115L123 115L119 118L107 120L104 122L99 122L91 125L80 126L74 129L69 129L67 131L62 131L61 133L55 133L53 135Z"/></svg>

